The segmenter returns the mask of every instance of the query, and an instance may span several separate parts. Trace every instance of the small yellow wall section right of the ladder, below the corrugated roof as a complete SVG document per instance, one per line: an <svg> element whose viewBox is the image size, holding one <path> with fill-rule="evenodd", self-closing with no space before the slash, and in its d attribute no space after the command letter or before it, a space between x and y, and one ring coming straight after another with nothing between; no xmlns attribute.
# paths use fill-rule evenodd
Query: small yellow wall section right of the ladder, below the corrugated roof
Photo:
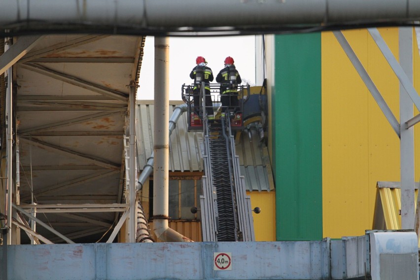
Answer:
<svg viewBox="0 0 420 280"><path fill-rule="evenodd" d="M251 207L261 208L261 213L255 214L255 241L276 241L276 192L246 192L251 197Z"/></svg>

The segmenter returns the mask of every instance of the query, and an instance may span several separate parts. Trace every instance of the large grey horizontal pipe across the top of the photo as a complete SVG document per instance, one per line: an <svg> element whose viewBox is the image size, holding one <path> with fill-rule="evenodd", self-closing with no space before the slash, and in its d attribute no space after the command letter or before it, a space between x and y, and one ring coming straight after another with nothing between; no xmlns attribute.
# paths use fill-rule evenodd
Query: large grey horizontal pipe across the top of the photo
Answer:
<svg viewBox="0 0 420 280"><path fill-rule="evenodd" d="M39 28L53 23L147 28L328 24L402 21L420 17L417 0L0 0L0 27L22 23ZM185 9L188 7L188 9ZM203 12L205 11L205 12ZM235 11L236 16L232 16ZM31 27L31 21L37 27ZM71 30L71 29L70 29Z"/></svg>

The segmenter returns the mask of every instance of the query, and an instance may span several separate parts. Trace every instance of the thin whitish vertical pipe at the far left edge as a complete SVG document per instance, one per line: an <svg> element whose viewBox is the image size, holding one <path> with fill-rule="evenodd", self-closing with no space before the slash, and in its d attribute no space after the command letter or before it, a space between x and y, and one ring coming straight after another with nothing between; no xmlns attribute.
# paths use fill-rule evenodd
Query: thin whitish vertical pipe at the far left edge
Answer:
<svg viewBox="0 0 420 280"><path fill-rule="evenodd" d="M10 40L6 41L6 51L10 48ZM7 245L11 245L12 241L12 68L7 69L7 89L6 89L6 108L7 108L7 228L9 230L9 236L7 237Z"/></svg>

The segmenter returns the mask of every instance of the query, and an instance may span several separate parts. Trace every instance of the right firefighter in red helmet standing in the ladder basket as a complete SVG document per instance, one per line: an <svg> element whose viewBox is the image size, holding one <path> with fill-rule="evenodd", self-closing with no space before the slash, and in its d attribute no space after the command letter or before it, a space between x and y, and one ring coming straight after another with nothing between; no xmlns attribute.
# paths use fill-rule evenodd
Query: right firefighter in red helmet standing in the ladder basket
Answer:
<svg viewBox="0 0 420 280"><path fill-rule="evenodd" d="M224 61L225 68L216 76L216 82L220 83L221 116L225 115L226 110L238 110L238 85L242 79L234 63L233 58L228 56Z"/></svg>

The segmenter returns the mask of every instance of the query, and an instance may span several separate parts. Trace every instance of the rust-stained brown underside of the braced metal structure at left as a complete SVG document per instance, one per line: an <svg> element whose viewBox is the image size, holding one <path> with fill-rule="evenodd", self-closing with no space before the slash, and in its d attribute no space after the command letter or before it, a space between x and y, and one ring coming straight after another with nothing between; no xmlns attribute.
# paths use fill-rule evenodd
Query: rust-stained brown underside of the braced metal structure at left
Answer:
<svg viewBox="0 0 420 280"><path fill-rule="evenodd" d="M13 39L18 46L20 40L25 37ZM127 85L138 80L143 46L144 36L43 35L13 66L20 204L31 203L33 193L38 204L121 203ZM39 215L85 243L100 239L116 217L115 212L87 212L82 219ZM98 221L102 225L93 227ZM55 241L42 227L37 233ZM22 243L28 242L22 234Z"/></svg>

